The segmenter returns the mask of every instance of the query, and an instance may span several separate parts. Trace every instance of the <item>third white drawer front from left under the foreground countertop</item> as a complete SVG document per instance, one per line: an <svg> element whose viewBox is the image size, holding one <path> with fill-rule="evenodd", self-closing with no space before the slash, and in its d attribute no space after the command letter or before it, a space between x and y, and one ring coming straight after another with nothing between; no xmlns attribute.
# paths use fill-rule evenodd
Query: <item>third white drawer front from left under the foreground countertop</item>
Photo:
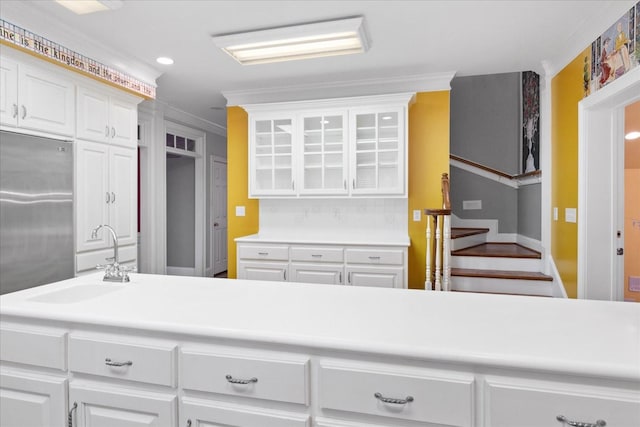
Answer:
<svg viewBox="0 0 640 427"><path fill-rule="evenodd" d="M182 387L308 405L309 360L248 358L183 351Z"/></svg>

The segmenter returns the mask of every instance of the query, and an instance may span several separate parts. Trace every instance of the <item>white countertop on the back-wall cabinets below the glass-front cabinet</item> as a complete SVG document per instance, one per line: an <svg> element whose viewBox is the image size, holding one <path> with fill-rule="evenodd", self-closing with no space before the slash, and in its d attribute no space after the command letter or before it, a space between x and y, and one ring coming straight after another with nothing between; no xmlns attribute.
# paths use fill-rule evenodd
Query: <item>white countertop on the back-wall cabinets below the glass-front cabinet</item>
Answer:
<svg viewBox="0 0 640 427"><path fill-rule="evenodd" d="M236 242L244 243L281 243L281 244L319 244L319 245L372 245L372 246L410 246L409 236L384 231L333 233L330 230L306 230L304 234L286 230L260 232L249 236L237 237Z"/></svg>

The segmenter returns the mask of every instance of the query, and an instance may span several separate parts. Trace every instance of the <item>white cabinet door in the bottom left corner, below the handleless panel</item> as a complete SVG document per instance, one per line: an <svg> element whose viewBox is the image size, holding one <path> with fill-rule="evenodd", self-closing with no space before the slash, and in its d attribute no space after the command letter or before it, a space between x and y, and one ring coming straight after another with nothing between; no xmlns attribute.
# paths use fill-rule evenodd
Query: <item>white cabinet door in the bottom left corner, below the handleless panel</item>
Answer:
<svg viewBox="0 0 640 427"><path fill-rule="evenodd" d="M0 425L66 426L66 388L65 378L3 370L0 375Z"/></svg>

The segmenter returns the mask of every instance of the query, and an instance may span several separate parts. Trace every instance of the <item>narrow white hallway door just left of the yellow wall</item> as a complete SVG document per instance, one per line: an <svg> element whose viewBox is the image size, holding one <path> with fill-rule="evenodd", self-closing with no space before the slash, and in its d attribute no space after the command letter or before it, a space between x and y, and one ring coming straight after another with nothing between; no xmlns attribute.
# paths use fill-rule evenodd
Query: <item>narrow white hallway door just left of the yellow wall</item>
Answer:
<svg viewBox="0 0 640 427"><path fill-rule="evenodd" d="M227 271L227 162L213 161L213 197L211 212L213 219L213 239L211 256L213 274Z"/></svg>

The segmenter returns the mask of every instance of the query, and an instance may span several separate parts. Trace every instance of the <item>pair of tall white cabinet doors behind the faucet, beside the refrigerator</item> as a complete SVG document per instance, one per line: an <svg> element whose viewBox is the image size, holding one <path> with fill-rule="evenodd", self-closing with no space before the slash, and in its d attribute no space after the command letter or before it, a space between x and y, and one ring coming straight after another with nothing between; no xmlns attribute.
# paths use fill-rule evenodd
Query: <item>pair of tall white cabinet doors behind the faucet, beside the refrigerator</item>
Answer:
<svg viewBox="0 0 640 427"><path fill-rule="evenodd" d="M100 224L116 230L121 246L136 244L137 151L78 140L76 142L76 250L110 247L106 230L91 238Z"/></svg>

